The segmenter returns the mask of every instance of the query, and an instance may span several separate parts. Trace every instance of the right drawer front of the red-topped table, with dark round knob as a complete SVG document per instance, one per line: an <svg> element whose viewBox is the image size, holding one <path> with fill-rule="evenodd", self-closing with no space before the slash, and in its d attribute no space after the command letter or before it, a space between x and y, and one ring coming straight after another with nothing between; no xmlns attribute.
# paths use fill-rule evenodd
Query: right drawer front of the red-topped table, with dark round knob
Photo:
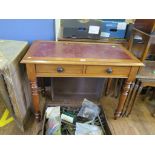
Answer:
<svg viewBox="0 0 155 155"><path fill-rule="evenodd" d="M113 66L87 66L86 74L96 74L103 76L128 76L130 67L113 67Z"/></svg>

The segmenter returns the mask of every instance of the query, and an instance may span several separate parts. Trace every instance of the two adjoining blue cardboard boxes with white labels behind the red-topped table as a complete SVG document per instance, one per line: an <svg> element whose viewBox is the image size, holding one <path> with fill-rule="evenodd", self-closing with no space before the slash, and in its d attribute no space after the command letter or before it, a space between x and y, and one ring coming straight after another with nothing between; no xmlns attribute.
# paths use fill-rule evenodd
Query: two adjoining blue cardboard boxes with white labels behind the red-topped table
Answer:
<svg viewBox="0 0 155 155"><path fill-rule="evenodd" d="M61 26L64 38L124 39L128 23L125 19L64 19Z"/></svg>

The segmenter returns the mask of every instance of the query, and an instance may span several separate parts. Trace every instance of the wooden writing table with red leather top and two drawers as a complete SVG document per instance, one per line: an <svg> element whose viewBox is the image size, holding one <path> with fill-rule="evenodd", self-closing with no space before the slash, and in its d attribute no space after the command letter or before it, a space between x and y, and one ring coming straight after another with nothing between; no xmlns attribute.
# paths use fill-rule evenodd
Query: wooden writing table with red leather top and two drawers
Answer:
<svg viewBox="0 0 155 155"><path fill-rule="evenodd" d="M21 63L26 64L36 119L40 119L37 77L127 78L114 118L121 116L130 85L143 64L122 45L35 41Z"/></svg>

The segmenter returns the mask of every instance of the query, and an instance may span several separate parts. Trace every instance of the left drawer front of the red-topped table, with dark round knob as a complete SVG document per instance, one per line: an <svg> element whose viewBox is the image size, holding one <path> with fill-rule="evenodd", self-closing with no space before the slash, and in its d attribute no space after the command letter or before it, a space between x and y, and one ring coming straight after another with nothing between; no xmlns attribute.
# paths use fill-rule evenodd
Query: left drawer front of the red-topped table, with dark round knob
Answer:
<svg viewBox="0 0 155 155"><path fill-rule="evenodd" d="M82 65L36 65L37 73L82 74Z"/></svg>

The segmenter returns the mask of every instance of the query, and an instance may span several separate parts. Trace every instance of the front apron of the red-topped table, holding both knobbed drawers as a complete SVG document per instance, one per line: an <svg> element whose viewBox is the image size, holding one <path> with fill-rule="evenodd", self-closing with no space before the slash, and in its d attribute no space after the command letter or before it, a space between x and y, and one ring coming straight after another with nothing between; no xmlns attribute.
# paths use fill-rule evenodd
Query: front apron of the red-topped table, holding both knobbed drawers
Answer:
<svg viewBox="0 0 155 155"><path fill-rule="evenodd" d="M36 64L36 77L127 78L130 66Z"/></svg>

